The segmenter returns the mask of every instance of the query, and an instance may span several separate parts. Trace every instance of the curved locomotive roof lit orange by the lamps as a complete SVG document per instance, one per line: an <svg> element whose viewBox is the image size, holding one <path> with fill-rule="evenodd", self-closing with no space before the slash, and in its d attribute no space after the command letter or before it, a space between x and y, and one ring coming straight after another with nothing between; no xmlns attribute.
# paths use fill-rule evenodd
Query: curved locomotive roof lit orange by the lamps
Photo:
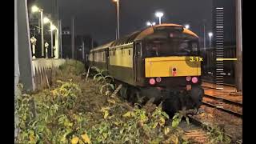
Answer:
<svg viewBox="0 0 256 144"><path fill-rule="evenodd" d="M194 34L194 32L184 28L181 25L174 24L174 23L163 23L161 25L147 27L144 30L135 31L134 33L128 34L128 35L126 35L123 38L119 38L118 40L115 40L113 42L109 42L109 43L107 43L107 44L105 44L103 46L98 46L97 48L95 48L95 49L93 49L91 51L106 49L107 47L112 47L112 46L125 45L125 44L132 43L134 41L142 40L143 38L146 38L148 35L154 34L154 30L158 29L159 27L166 27L166 26L180 27L183 30L182 33L189 34L189 35L192 35L192 36L198 38L197 34Z"/></svg>

